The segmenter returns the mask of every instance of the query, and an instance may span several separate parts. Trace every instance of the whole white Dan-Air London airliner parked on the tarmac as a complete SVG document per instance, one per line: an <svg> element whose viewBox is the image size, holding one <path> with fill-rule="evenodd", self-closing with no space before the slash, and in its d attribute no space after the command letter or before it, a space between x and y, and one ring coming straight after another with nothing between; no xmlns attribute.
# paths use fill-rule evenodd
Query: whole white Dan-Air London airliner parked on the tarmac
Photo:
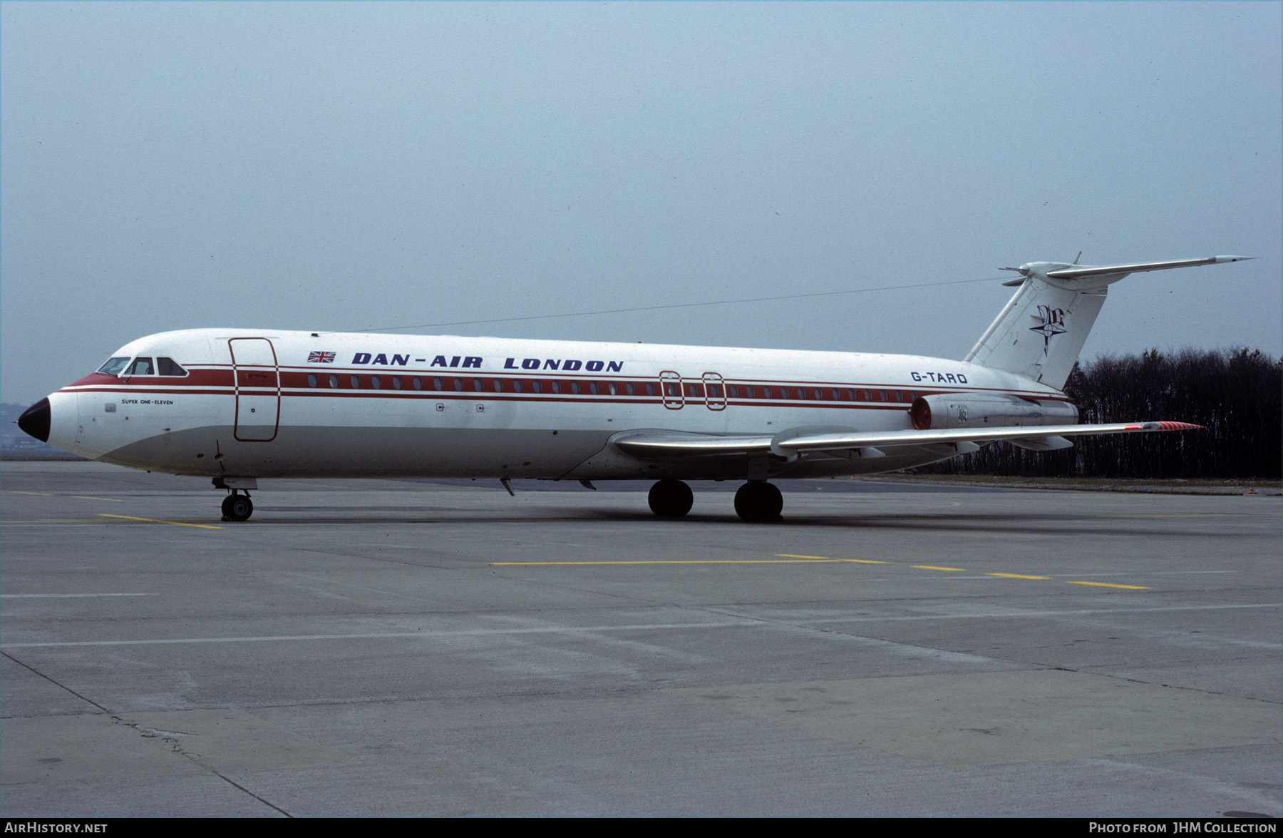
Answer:
<svg viewBox="0 0 1283 838"><path fill-rule="evenodd" d="M735 511L780 517L770 479L897 471L1007 440L1194 429L1079 425L1061 388L1110 284L1238 262L1032 262L962 361L553 340L196 329L140 338L30 407L36 439L103 462L212 477L244 521L259 477L744 480Z"/></svg>

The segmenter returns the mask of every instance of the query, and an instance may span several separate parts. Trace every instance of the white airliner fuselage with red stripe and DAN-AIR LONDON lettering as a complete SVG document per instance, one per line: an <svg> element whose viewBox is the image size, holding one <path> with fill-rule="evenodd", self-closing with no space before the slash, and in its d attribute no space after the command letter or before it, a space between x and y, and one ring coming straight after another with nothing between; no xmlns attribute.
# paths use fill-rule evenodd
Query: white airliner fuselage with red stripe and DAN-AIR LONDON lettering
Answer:
<svg viewBox="0 0 1283 838"><path fill-rule="evenodd" d="M141 338L113 362L104 368L114 372L49 397L49 441L209 477L742 479L734 458L644 462L607 441L640 429L902 430L913 399L938 393L1065 398L1011 372L919 355L449 335L201 329ZM775 462L770 476L946 456L812 456Z"/></svg>

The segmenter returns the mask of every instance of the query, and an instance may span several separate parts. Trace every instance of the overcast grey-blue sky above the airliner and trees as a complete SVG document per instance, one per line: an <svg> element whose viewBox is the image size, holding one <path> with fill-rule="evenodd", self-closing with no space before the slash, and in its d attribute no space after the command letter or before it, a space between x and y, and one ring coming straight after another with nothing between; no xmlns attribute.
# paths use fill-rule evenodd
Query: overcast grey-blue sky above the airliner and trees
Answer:
<svg viewBox="0 0 1283 838"><path fill-rule="evenodd" d="M171 329L1135 275L1283 352L1279 3L4 3L0 390ZM1010 275L1008 275L1010 276ZM422 329L960 358L997 281Z"/></svg>

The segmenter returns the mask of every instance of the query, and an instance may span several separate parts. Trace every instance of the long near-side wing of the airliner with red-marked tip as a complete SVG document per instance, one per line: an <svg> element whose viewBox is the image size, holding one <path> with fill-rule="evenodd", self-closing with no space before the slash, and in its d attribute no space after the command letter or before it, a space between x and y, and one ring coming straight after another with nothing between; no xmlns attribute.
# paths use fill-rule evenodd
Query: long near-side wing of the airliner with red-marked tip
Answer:
<svg viewBox="0 0 1283 838"><path fill-rule="evenodd" d="M1202 427L1187 422L1117 422L1112 425L1029 425L1021 427L974 427L944 431L829 431L799 432L798 429L774 436L716 436L679 431L624 431L611 438L621 452L640 459L680 459L686 457L775 454L793 458L808 452L874 449L901 445L943 445L958 443L992 443L1011 440L1034 450L1069 447L1066 436L1092 434L1148 434L1153 431L1188 431ZM973 449L974 450L974 449ZM961 449L958 453L962 453ZM876 456L876 454L875 454Z"/></svg>

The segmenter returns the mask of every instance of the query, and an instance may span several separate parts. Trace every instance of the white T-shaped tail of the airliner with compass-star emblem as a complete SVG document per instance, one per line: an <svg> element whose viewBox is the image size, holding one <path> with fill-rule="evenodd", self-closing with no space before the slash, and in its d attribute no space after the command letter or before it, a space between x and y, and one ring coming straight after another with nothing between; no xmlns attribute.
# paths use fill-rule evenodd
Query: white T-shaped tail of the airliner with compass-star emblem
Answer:
<svg viewBox="0 0 1283 838"><path fill-rule="evenodd" d="M1007 268L1017 271L1023 278L1003 285L1020 287L964 361L1015 372L1060 390L1101 313L1110 285L1128 273L1252 258L1209 257L1115 266L1030 262Z"/></svg>

